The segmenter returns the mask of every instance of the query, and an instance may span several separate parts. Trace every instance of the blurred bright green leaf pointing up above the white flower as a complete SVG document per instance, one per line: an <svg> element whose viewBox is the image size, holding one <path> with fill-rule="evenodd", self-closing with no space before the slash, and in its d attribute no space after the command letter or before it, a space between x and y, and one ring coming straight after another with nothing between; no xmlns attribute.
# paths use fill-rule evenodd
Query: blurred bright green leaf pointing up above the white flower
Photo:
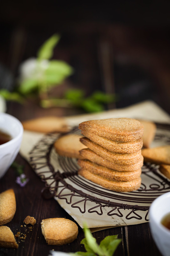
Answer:
<svg viewBox="0 0 170 256"><path fill-rule="evenodd" d="M54 34L39 49L37 53L38 60L50 59L53 55L53 49L60 40L60 36Z"/></svg>

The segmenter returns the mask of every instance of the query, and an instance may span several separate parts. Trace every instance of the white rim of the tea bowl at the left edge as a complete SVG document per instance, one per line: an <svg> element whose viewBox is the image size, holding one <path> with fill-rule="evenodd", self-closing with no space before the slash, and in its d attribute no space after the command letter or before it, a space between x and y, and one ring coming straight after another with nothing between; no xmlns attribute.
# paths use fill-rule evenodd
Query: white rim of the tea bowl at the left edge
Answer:
<svg viewBox="0 0 170 256"><path fill-rule="evenodd" d="M2 145L0 145L0 149L6 147L6 146L8 146L8 145L11 145L11 144L15 143L18 139L20 139L20 137L22 137L23 131L24 131L24 128L23 128L22 123L21 123L16 117L14 117L14 116L12 116L12 115L10 115L10 114L8 114L8 113L4 113L4 112L1 112L1 113L0 113L0 116L1 116L1 115L8 116L8 117L11 118L13 121L15 121L15 123L18 124L19 133L18 133L17 136L15 136L14 138L12 138L11 140L9 140L9 141L3 143Z"/></svg>

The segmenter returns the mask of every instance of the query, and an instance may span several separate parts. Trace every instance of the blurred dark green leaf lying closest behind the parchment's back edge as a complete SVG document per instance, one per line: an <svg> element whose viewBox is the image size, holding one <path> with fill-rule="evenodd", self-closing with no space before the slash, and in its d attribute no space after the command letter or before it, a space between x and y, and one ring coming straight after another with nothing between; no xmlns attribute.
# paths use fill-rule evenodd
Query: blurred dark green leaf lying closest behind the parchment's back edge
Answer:
<svg viewBox="0 0 170 256"><path fill-rule="evenodd" d="M102 104L91 98L87 98L81 103L81 107L87 112L101 112L104 110Z"/></svg>

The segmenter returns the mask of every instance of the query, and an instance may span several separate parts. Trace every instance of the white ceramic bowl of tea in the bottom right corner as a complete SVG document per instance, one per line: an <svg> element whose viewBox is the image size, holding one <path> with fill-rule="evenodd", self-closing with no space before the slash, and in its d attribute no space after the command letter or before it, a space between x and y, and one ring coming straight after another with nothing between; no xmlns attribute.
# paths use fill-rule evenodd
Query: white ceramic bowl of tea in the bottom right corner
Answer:
<svg viewBox="0 0 170 256"><path fill-rule="evenodd" d="M161 224L161 220L168 213L170 213L170 192L155 199L149 210L152 236L164 256L170 256L170 230Z"/></svg>

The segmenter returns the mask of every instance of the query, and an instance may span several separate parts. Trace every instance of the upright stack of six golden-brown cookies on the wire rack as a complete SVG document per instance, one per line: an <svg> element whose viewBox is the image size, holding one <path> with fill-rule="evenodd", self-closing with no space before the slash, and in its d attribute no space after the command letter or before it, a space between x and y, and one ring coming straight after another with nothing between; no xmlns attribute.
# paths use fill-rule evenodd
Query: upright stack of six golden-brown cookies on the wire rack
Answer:
<svg viewBox="0 0 170 256"><path fill-rule="evenodd" d="M111 190L128 192L141 185L143 125L130 118L85 121L79 124L78 174Z"/></svg>

